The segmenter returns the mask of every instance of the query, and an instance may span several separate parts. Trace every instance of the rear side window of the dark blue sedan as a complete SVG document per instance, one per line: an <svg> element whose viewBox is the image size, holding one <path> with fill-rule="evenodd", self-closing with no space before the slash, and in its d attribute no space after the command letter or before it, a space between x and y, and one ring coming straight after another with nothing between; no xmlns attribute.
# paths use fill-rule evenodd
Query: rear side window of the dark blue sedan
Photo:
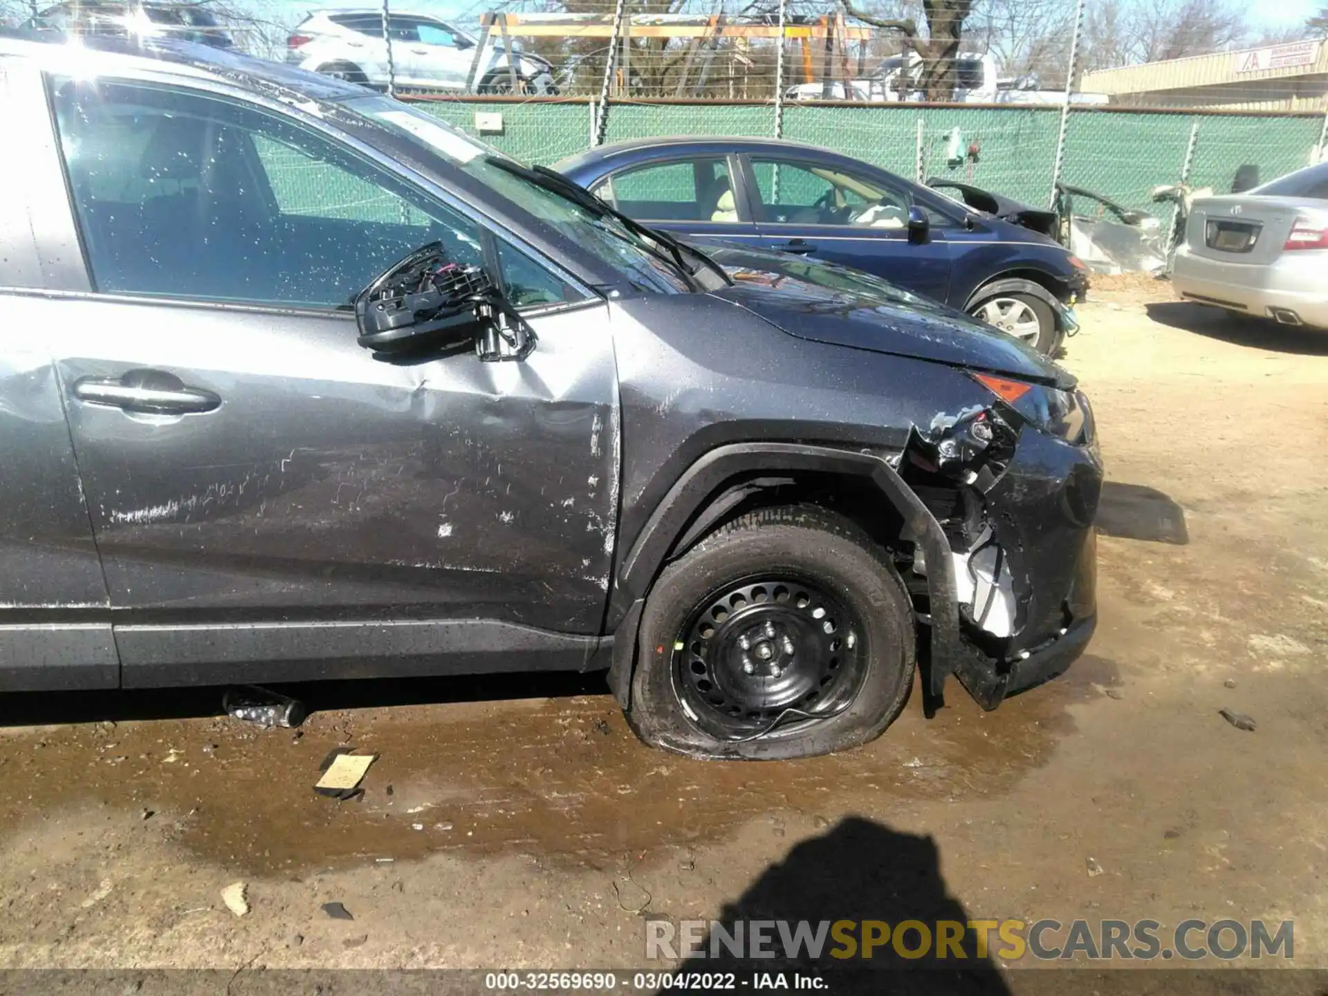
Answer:
<svg viewBox="0 0 1328 996"><path fill-rule="evenodd" d="M647 222L738 222L722 157L651 163L615 173L595 193L629 218Z"/></svg>

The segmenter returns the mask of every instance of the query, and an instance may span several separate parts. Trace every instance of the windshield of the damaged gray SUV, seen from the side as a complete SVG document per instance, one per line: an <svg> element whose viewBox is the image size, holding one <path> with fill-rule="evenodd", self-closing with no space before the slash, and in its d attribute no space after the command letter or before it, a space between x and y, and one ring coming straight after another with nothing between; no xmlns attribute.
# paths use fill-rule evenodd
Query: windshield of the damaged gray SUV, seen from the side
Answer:
<svg viewBox="0 0 1328 996"><path fill-rule="evenodd" d="M612 215L598 212L517 175L503 166L507 163L519 170L514 159L463 131L389 97L355 97L344 101L344 106L446 157L452 165L607 263L637 290L659 293L693 290L693 282L685 271Z"/></svg>

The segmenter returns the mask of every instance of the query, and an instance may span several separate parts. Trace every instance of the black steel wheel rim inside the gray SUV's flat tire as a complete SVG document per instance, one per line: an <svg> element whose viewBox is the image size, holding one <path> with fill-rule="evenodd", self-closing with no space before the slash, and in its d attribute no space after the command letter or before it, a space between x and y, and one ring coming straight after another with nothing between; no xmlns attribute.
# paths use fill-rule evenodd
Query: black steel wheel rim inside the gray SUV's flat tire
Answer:
<svg viewBox="0 0 1328 996"><path fill-rule="evenodd" d="M728 584L673 644L683 701L722 738L830 716L862 683L861 631L843 603L813 582L758 576Z"/></svg>

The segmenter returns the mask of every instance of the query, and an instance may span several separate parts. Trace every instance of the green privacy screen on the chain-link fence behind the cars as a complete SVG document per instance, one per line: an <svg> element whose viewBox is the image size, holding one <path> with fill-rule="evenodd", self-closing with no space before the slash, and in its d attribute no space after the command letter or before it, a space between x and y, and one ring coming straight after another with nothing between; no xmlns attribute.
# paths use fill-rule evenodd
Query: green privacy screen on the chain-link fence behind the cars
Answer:
<svg viewBox="0 0 1328 996"><path fill-rule="evenodd" d="M586 101L429 100L417 106L527 162L550 165L591 143L592 105ZM477 114L501 116L502 130L481 133ZM490 124L497 121L490 117ZM1260 179L1272 179L1313 162L1323 126L1323 114L1072 110L1061 179L1147 210L1151 187L1179 182L1194 127L1190 183L1226 193L1243 165L1258 166ZM764 104L614 102L606 141L769 135L773 127L773 108ZM956 129L964 161L950 166ZM1050 198L1058 129L1054 106L789 104L784 112L788 139L826 146L910 179L920 146L924 177L969 182L1032 205ZM967 155L969 147L976 158Z"/></svg>

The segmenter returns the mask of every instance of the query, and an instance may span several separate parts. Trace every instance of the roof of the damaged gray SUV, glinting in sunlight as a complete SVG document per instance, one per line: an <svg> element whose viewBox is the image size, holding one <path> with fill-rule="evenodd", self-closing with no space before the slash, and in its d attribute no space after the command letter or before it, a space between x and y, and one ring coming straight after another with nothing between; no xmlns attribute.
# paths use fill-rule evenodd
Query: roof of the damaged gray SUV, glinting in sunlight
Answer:
<svg viewBox="0 0 1328 996"><path fill-rule="evenodd" d="M61 44L68 41L68 44ZM151 70L189 80L212 80L256 90L287 104L364 96L356 84L320 76L284 62L254 58L231 49L177 39L4 37L0 58L23 58L50 70L116 74Z"/></svg>

